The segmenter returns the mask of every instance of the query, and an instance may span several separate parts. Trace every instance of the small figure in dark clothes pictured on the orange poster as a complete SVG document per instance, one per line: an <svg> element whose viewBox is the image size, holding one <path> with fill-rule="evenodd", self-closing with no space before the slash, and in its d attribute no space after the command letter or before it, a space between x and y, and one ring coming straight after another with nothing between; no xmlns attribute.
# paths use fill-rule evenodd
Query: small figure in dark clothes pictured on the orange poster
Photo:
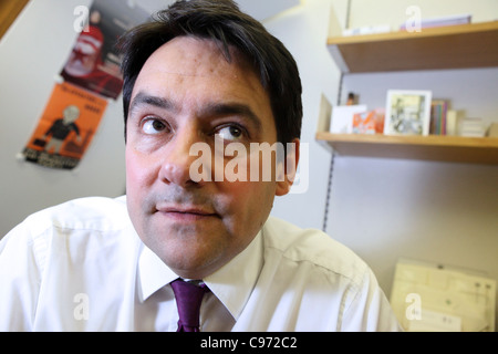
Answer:
<svg viewBox="0 0 498 354"><path fill-rule="evenodd" d="M62 145L71 132L76 133L76 143L81 144L82 142L80 129L74 123L80 117L80 108L71 105L64 110L63 114L64 117L56 119L42 137L46 142L51 136L50 142L45 145L45 152L49 154L60 154Z"/></svg>

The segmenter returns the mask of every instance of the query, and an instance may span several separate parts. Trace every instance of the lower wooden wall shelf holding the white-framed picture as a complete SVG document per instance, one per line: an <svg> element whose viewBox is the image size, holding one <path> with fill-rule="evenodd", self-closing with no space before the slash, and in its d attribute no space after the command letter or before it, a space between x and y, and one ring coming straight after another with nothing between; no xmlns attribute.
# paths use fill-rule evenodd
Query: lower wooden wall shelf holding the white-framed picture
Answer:
<svg viewBox="0 0 498 354"><path fill-rule="evenodd" d="M498 165L498 138L317 133L317 140L343 156Z"/></svg>

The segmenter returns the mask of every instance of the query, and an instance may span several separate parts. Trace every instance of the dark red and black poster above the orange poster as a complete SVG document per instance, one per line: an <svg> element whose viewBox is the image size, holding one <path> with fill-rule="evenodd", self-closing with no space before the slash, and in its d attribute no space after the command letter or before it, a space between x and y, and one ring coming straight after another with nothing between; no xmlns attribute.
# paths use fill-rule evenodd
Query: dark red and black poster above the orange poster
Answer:
<svg viewBox="0 0 498 354"><path fill-rule="evenodd" d="M116 100L122 91L121 56L116 40L149 14L123 0L95 0L89 20L62 69L64 81Z"/></svg>

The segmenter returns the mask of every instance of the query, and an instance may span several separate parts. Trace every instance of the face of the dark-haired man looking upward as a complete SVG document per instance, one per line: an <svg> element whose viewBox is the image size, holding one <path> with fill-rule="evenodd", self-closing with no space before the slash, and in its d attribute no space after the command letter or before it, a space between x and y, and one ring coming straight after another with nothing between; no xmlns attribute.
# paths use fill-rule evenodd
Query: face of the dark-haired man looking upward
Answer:
<svg viewBox="0 0 498 354"><path fill-rule="evenodd" d="M212 41L176 38L148 59L132 93L126 188L139 237L184 278L205 278L242 251L274 196L291 186L276 181L274 171L270 181L218 180L212 173L211 181L195 183L190 166L199 156L191 146L206 144L215 159L220 137L221 146L246 146L248 156L250 143L276 143L269 96L235 51L228 63Z"/></svg>

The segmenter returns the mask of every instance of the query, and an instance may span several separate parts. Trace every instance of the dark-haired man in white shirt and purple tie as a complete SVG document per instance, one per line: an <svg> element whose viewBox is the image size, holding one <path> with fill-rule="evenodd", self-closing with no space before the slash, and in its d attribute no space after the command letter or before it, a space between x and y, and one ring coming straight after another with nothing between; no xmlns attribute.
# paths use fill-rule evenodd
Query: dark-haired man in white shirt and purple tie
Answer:
<svg viewBox="0 0 498 354"><path fill-rule="evenodd" d="M0 330L397 331L352 251L269 217L302 118L282 43L231 1L194 0L121 46L127 196L41 211L2 240ZM271 163L253 146L276 147ZM241 170L255 178L228 177Z"/></svg>

